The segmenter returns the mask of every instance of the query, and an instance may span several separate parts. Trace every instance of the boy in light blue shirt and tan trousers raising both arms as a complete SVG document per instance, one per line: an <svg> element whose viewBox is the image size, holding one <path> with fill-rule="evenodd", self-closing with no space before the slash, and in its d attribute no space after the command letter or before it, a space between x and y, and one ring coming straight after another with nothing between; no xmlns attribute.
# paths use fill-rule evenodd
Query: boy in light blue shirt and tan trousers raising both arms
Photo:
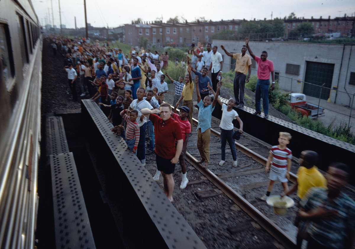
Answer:
<svg viewBox="0 0 355 249"><path fill-rule="evenodd" d="M198 80L198 76L196 76L196 94L198 103L197 149L201 156L199 163L201 164L204 162L202 167L207 168L209 163L209 143L211 140L212 112L214 110L215 104L217 103L219 89L222 86L222 83L218 83L217 93L213 91L211 85L207 84L208 90L212 90L212 93L214 94L213 101L210 96L205 96L202 101L199 85L200 82Z"/></svg>

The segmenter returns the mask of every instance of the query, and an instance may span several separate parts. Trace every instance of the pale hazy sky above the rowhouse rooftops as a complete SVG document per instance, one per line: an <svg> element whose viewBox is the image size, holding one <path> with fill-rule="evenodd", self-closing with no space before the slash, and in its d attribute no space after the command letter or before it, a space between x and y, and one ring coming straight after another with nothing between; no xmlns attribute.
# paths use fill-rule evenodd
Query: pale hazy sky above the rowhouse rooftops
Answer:
<svg viewBox="0 0 355 249"><path fill-rule="evenodd" d="M59 0L32 0L33 7L42 25L54 25L59 28ZM67 28L85 27L84 0L60 0L61 22ZM134 5L131 3L134 2ZM162 0L86 0L87 22L94 27L118 27L132 20L154 21L163 17L166 22L170 17L183 17L188 22L195 18L220 21L232 19L263 20L288 16L291 12L296 17L331 18L355 16L354 0L219 0L219 1L162 1ZM217 3L216 3L217 2ZM189 7L187 7L189 6ZM50 18L48 18L48 16ZM49 19L49 20L48 20Z"/></svg>

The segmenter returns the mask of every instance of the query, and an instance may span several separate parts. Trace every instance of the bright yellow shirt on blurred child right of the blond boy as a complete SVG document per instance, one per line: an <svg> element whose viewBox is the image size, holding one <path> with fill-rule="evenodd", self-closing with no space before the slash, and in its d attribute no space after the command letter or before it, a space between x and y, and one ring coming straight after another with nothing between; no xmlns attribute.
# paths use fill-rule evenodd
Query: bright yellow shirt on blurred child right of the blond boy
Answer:
<svg viewBox="0 0 355 249"><path fill-rule="evenodd" d="M316 166L313 166L312 168L306 168L303 166L299 167L297 176L297 196L301 199L307 193L308 189L312 187L327 188L327 180L322 173L318 171Z"/></svg>

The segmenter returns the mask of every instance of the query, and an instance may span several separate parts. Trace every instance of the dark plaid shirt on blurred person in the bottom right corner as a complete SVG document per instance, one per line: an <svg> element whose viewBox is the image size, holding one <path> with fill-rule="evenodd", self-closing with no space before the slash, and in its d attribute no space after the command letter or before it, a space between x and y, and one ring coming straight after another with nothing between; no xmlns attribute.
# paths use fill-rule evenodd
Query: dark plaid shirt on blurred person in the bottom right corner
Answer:
<svg viewBox="0 0 355 249"><path fill-rule="evenodd" d="M300 205L311 211L319 207L338 211L331 219L313 220L307 233L318 243L329 248L345 248L346 230L355 229L355 203L348 195L340 192L333 201L328 200L328 190L321 187L310 188Z"/></svg>

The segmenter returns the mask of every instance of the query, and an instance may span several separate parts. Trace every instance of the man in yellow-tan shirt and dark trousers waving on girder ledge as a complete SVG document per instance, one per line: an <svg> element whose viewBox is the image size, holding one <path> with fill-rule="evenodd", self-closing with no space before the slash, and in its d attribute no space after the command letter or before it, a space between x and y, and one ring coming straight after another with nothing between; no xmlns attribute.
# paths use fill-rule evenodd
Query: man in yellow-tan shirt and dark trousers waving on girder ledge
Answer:
<svg viewBox="0 0 355 249"><path fill-rule="evenodd" d="M221 45L221 48L224 50L226 55L236 59L235 61L235 75L234 75L234 98L235 104L238 108L244 107L244 86L245 82L249 82L250 74L251 74L251 58L248 54L246 54L246 45L242 46L241 53L232 54L225 50L224 46ZM248 77L246 78L246 74L248 73ZM245 81L246 79L246 81ZM240 92L239 92L240 91Z"/></svg>

